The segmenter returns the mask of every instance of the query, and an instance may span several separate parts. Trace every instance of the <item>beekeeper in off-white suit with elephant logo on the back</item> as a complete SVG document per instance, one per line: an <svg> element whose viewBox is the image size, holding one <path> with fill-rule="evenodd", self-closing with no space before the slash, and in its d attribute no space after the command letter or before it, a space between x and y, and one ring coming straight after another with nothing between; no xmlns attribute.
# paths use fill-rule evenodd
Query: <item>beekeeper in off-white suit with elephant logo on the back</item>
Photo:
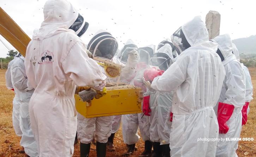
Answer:
<svg viewBox="0 0 256 157"><path fill-rule="evenodd" d="M35 91L29 102L39 156L71 157L77 131L76 86L102 90L106 76L79 36L88 23L66 0L49 0L44 21L26 50L25 68ZM81 70L83 69L83 70Z"/></svg>

